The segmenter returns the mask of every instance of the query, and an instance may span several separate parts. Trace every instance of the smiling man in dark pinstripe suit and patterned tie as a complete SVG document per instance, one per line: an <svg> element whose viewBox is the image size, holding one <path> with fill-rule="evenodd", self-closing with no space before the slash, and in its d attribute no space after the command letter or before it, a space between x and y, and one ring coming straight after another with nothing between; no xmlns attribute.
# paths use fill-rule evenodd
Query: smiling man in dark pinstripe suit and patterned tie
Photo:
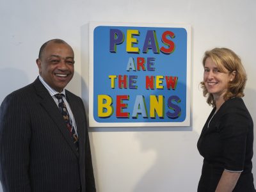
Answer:
<svg viewBox="0 0 256 192"><path fill-rule="evenodd" d="M3 191L94 192L84 105L65 90L74 75L74 52L63 40L49 40L36 63L40 76L1 104Z"/></svg>

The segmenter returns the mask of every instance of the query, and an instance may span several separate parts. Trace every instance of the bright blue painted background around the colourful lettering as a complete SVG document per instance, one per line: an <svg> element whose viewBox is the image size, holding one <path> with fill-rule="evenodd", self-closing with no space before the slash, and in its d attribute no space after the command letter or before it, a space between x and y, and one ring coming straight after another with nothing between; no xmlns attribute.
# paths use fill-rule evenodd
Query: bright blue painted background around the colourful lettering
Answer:
<svg viewBox="0 0 256 192"><path fill-rule="evenodd" d="M109 31L110 29L119 29L124 33L124 42L120 45L116 45L116 52L109 51ZM140 48L140 54L126 52L126 31L127 29L136 29L140 31L140 36L134 36L138 39L138 44L134 44L133 47ZM154 54L149 49L147 53L143 53L143 45L148 30L155 30L157 41L160 47L166 47L161 41L161 36L164 31L172 31L175 34L175 38L172 41L175 44L175 51L171 54ZM187 32L184 28L151 28L151 27L132 27L132 26L97 26L93 31L93 118L97 122L183 122L186 119L186 82L187 82ZM170 38L169 38L170 39ZM171 40L171 39L170 39ZM145 67L147 67L147 58L155 58L154 71L133 71L126 70L129 58L134 58L136 64L137 57L144 57L146 60ZM138 76L136 79L138 86L137 89L120 89L118 88L118 81L116 79L116 88L111 88L111 80L109 75L127 75ZM147 90L145 88L146 76L177 76L177 86L175 90L168 90L165 86L165 79L163 80L163 90ZM98 95L109 95L113 99L114 113L109 118L99 118L97 115L97 97ZM128 104L128 107L123 112L129 112L130 118L116 118L115 105L116 95L129 95L129 100L124 100ZM149 115L150 104L149 95L164 95L165 98L165 110L164 113L172 109L168 109L167 100L172 95L177 95L180 98L180 103L177 104L181 108L181 115L179 118L171 119L164 115L164 118L143 118L138 115L137 119L132 118L132 111L134 108L134 102L136 95L144 95L147 111Z"/></svg>

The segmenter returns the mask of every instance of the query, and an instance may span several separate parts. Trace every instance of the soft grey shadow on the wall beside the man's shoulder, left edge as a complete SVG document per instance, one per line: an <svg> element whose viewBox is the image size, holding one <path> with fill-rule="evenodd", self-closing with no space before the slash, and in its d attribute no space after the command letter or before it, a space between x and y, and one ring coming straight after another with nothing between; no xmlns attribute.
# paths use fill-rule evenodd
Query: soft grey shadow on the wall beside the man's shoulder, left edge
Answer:
<svg viewBox="0 0 256 192"><path fill-rule="evenodd" d="M1 68L0 69L0 103L4 98L13 91L22 88L29 84L29 78L22 70L16 68Z"/></svg>

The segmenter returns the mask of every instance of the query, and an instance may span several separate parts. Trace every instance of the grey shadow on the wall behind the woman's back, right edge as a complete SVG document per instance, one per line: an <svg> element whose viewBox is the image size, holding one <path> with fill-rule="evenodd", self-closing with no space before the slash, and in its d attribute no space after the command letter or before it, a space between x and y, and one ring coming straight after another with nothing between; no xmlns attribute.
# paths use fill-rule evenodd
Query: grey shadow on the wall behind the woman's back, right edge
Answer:
<svg viewBox="0 0 256 192"><path fill-rule="evenodd" d="M244 90L244 103L246 104L246 107L248 108L252 119L253 119L253 124L254 124L254 138L256 138L256 131L255 131L255 127L256 127L256 101L255 101L255 94L256 94L256 90L252 90L252 89L246 89ZM252 164L253 164L253 168L252 168L252 173L253 173L253 177L254 177L254 185L256 186L256 141L254 139L254 143L253 143L253 159L252 159Z"/></svg>

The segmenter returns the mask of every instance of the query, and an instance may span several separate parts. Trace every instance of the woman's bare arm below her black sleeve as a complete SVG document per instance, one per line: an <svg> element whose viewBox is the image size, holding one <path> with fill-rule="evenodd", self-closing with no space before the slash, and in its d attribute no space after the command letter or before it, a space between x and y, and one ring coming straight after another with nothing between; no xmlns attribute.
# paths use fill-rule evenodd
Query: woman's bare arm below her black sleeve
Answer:
<svg viewBox="0 0 256 192"><path fill-rule="evenodd" d="M215 192L231 192L236 186L241 172L228 172L224 170Z"/></svg>

